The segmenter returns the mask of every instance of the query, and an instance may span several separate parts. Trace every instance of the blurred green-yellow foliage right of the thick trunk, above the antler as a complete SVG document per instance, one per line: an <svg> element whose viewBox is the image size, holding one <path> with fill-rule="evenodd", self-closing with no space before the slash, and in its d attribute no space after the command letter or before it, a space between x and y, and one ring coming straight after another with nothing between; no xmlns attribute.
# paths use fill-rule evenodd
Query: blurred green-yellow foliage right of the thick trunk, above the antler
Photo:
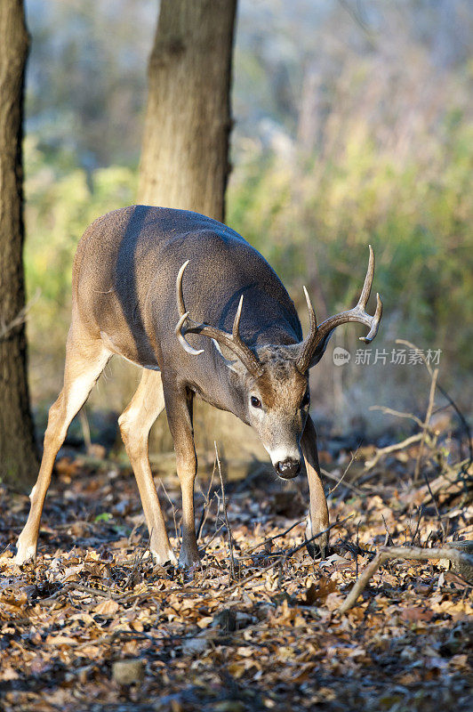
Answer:
<svg viewBox="0 0 473 712"><path fill-rule="evenodd" d="M252 157L233 178L228 223L299 289L295 298L318 272L329 311L353 303L373 244L385 319L470 368L473 125L447 117L430 142L425 161L399 161L359 134L305 164Z"/></svg>

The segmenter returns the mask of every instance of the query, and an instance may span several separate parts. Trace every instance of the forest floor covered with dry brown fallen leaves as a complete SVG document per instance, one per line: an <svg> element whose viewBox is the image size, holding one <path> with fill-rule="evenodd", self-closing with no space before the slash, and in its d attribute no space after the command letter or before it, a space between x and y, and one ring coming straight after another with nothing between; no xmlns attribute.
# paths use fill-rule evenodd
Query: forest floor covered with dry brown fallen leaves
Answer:
<svg viewBox="0 0 473 712"><path fill-rule="evenodd" d="M393 559L341 613L381 546L472 538L458 472L430 461L429 490L413 483L418 443L372 469L368 455L347 470L349 453L322 452L325 483L345 473L323 561L303 546L307 483L266 465L225 487L231 550L218 470L208 498L197 491L204 555L188 571L153 566L132 473L113 462L59 459L36 563L21 568L28 498L0 489L0 709L471 710L472 589L448 562ZM177 478L160 474L174 533Z"/></svg>

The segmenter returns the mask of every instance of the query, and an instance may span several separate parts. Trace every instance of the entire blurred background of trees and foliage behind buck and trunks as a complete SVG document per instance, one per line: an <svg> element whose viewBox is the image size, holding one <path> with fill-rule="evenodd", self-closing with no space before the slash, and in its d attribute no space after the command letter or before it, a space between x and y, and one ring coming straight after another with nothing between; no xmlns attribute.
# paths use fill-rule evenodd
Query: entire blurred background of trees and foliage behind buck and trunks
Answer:
<svg viewBox="0 0 473 712"><path fill-rule="evenodd" d="M98 214L137 198L146 66L156 4L27 0L28 324L39 413L60 388L70 264ZM395 339L441 349L441 380L470 409L473 304L473 58L468 0L240 0L235 128L226 222L277 269L305 321L354 303L366 245L385 303L370 367L333 366L364 348L356 328L313 369L320 423L383 428L374 403L419 409L420 366L389 363ZM374 349L373 349L374 351ZM123 407L134 376L100 385L95 406ZM131 383L133 381L133 383Z"/></svg>

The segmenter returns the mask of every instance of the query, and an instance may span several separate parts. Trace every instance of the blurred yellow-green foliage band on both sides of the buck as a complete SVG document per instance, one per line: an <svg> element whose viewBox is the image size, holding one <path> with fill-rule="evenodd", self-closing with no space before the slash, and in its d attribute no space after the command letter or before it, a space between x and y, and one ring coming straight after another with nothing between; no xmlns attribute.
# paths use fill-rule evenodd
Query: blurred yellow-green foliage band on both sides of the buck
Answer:
<svg viewBox="0 0 473 712"><path fill-rule="evenodd" d="M473 127L453 113L424 158L399 160L367 131L357 141L349 133L329 156L244 155L227 222L268 258L301 314L307 284L321 317L354 303L372 243L383 332L442 349L445 368L460 376L473 336ZM97 216L134 201L137 174L120 166L87 174L66 154L45 155L31 135L26 166L28 293L41 294L28 326L37 402L60 382L77 242Z"/></svg>

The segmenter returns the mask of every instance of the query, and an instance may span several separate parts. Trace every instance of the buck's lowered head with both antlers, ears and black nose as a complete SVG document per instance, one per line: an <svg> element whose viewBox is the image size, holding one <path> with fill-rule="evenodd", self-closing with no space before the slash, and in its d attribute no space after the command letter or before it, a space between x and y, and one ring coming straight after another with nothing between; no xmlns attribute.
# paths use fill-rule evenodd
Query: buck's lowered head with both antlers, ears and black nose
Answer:
<svg viewBox="0 0 473 712"><path fill-rule="evenodd" d="M238 304L232 333L228 334L208 324L198 324L189 319L182 295L182 275L188 262L184 263L176 280L177 302L180 312L175 332L183 349L198 355L203 350L192 348L185 335L200 334L212 339L221 359L233 372L233 380L243 401L245 420L252 425L269 452L272 464L279 477L292 479L301 471L301 436L309 413L309 368L324 355L333 329L349 321L365 324L370 330L360 338L369 344L378 331L382 304L376 295L376 312L365 312L371 292L374 272L373 249L357 305L348 312L341 312L323 321L317 327L316 314L310 303L306 287L304 294L309 309L309 335L300 344L264 345L254 351L240 336L239 326L243 296Z"/></svg>

